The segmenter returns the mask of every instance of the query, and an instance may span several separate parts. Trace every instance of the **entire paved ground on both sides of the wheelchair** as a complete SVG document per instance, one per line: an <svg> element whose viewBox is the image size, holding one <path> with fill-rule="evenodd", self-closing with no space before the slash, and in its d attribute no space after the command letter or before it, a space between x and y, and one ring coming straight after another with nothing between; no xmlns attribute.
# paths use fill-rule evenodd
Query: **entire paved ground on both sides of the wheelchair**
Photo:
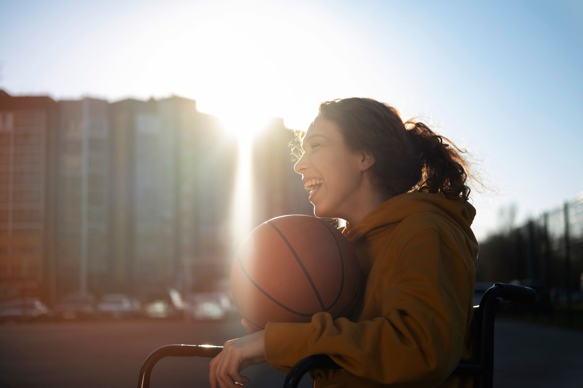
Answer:
<svg viewBox="0 0 583 388"><path fill-rule="evenodd" d="M150 351L172 343L222 344L244 335L240 323L97 322L0 326L0 388L132 387ZM496 323L495 387L583 386L583 333L523 322ZM208 387L205 358L166 358L152 388ZM283 373L245 370L248 388L277 387ZM311 386L309 376L302 388Z"/></svg>

